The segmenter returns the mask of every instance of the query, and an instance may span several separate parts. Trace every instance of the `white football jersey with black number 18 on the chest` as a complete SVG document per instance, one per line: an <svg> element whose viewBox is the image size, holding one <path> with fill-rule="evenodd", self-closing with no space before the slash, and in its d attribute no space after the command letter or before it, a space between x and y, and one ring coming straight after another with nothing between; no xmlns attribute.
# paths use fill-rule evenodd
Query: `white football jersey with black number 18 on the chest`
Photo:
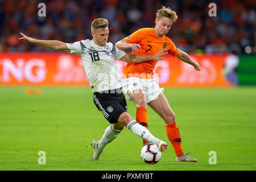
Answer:
<svg viewBox="0 0 256 182"><path fill-rule="evenodd" d="M114 59L121 59L125 56L125 52L110 42L101 47L89 39L67 43L67 46L71 53L81 56L82 65L93 92L121 88L121 78L118 76Z"/></svg>

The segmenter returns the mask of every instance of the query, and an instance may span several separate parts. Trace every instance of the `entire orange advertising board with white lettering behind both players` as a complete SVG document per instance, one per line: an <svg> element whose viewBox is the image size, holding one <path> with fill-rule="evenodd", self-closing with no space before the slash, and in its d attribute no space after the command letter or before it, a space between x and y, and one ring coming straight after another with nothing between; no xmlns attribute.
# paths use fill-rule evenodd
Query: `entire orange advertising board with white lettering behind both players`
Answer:
<svg viewBox="0 0 256 182"><path fill-rule="evenodd" d="M228 55L190 55L201 71L172 57L156 64L160 86L232 86L224 75ZM126 63L115 60L120 76ZM0 85L89 86L80 56L71 53L0 53Z"/></svg>

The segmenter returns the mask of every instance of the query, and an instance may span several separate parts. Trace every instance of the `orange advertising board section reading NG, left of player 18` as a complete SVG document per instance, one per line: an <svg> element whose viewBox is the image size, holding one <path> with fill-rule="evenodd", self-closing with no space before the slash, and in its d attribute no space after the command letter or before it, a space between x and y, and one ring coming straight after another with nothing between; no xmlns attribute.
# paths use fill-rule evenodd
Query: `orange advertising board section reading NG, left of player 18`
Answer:
<svg viewBox="0 0 256 182"><path fill-rule="evenodd" d="M0 84L89 85L81 57L71 53L2 53Z"/></svg>

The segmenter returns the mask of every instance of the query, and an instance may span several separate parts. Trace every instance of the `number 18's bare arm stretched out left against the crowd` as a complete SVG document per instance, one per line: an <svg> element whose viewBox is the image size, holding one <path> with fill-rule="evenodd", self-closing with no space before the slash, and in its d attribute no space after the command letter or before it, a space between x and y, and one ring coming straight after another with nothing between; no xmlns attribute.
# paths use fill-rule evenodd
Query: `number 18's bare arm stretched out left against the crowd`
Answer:
<svg viewBox="0 0 256 182"><path fill-rule="evenodd" d="M65 52L71 52L68 48L68 46L59 40L38 40L30 38L29 36L26 36L20 32L20 35L22 35L22 38L19 38L19 40L27 40L30 43L33 44L39 44L40 46L44 46L47 48L55 49L57 51L65 51Z"/></svg>

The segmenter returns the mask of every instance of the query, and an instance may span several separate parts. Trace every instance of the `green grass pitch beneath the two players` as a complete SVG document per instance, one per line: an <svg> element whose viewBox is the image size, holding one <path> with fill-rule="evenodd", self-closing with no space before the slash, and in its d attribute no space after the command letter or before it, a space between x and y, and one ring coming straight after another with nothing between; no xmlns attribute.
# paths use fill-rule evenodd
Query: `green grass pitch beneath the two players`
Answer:
<svg viewBox="0 0 256 182"><path fill-rule="evenodd" d="M163 120L148 107L148 125L155 137L170 144L159 163L140 156L142 139L126 128L93 161L93 139L109 123L93 104L90 88L42 87L41 95L25 87L0 88L0 170L255 170L256 88L166 88L176 114L184 152L197 163L175 162ZM133 102L128 112L135 117ZM39 165L39 151L46 164ZM210 151L217 164L209 164Z"/></svg>

